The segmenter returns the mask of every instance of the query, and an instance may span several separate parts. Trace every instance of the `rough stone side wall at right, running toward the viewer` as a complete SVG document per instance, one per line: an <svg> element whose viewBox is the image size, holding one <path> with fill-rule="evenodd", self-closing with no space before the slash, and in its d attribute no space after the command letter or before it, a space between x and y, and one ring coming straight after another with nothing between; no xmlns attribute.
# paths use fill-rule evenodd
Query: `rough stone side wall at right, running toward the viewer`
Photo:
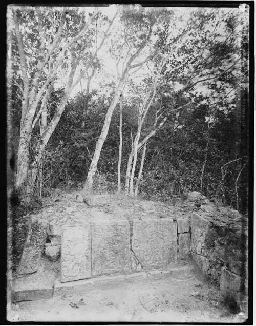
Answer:
<svg viewBox="0 0 256 326"><path fill-rule="evenodd" d="M199 210L189 219L191 257L223 292L247 293L248 226L237 210Z"/></svg>

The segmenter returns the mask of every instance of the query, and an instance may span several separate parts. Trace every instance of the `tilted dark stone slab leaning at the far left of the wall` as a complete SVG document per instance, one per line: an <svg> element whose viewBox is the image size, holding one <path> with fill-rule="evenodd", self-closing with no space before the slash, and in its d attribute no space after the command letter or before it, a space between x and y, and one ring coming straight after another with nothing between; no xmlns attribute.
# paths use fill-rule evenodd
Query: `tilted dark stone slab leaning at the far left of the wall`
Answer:
<svg viewBox="0 0 256 326"><path fill-rule="evenodd" d="M29 223L18 274L30 274L37 271L46 237L46 224L32 218Z"/></svg>

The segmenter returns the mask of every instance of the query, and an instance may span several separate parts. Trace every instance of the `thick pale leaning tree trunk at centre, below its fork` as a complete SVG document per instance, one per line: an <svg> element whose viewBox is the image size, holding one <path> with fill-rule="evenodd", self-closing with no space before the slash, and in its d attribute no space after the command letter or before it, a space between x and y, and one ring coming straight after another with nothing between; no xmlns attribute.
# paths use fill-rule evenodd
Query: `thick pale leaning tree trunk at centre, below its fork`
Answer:
<svg viewBox="0 0 256 326"><path fill-rule="evenodd" d="M97 143L96 143L96 148L95 148L93 159L92 159L89 171L88 171L86 183L84 184L84 187L83 187L83 190L82 190L83 197L88 195L90 193L91 189L92 189L93 179L94 179L94 176L95 176L96 167L97 167L98 160L99 160L99 157L100 157L100 152L101 152L102 146L103 146L103 144L105 142L106 136L108 136L108 131L109 131L109 127L110 127L112 114L113 114L113 111L114 111L118 101L119 101L119 98L120 98L121 92L123 90L124 84L125 84L125 82L127 80L127 77L128 77L128 71L125 70L122 78L120 79L119 85L118 85L117 90L115 92L114 98L113 98L113 100L112 100L112 102L110 104L108 112L106 112L104 124L103 124L102 130L101 130L100 136L99 136L99 138L97 140Z"/></svg>

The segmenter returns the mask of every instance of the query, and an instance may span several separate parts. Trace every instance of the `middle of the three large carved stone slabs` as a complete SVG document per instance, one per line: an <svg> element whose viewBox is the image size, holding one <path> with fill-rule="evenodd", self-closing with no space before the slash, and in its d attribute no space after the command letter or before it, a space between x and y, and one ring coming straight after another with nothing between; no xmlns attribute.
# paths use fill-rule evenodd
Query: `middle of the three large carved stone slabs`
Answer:
<svg viewBox="0 0 256 326"><path fill-rule="evenodd" d="M94 220L92 232L92 275L127 272L130 268L130 225L128 221Z"/></svg>

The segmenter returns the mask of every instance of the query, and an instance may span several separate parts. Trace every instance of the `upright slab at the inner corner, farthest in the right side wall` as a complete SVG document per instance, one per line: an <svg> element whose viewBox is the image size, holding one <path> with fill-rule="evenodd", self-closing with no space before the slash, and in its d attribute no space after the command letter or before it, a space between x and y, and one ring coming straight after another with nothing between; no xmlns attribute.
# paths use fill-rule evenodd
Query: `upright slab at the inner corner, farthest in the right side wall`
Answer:
<svg viewBox="0 0 256 326"><path fill-rule="evenodd" d="M196 254L203 253L209 225L210 222L208 220L196 213L190 216L191 250Z"/></svg>

